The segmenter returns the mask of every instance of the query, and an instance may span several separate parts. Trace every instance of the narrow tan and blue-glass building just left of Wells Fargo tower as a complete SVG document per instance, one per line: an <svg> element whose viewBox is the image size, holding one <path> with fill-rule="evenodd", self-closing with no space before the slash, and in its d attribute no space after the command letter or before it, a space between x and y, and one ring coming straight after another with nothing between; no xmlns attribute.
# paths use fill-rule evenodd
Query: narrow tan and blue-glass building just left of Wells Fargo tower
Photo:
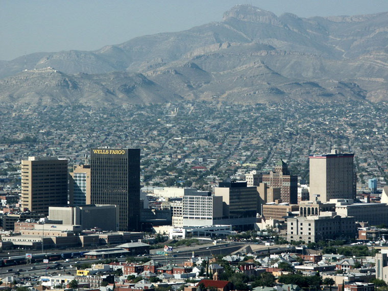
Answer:
<svg viewBox="0 0 388 291"><path fill-rule="evenodd" d="M90 204L90 165L74 166L69 177L69 204Z"/></svg>

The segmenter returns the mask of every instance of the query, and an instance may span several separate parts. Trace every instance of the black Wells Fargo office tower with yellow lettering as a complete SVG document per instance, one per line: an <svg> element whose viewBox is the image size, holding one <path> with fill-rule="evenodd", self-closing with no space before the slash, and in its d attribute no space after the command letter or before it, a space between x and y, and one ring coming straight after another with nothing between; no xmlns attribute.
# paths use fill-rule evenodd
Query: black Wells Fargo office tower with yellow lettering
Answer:
<svg viewBox="0 0 388 291"><path fill-rule="evenodd" d="M91 149L90 200L119 206L119 230L137 231L140 218L140 149Z"/></svg>

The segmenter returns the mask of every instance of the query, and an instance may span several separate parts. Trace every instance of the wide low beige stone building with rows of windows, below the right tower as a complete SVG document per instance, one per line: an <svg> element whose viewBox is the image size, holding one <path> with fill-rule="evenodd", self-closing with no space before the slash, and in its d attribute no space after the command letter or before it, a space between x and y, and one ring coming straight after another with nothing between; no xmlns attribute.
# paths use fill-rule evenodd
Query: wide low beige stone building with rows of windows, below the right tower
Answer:
<svg viewBox="0 0 388 291"><path fill-rule="evenodd" d="M325 239L355 237L356 230L354 217L341 217L335 212L287 220L287 240L303 240L306 244Z"/></svg>

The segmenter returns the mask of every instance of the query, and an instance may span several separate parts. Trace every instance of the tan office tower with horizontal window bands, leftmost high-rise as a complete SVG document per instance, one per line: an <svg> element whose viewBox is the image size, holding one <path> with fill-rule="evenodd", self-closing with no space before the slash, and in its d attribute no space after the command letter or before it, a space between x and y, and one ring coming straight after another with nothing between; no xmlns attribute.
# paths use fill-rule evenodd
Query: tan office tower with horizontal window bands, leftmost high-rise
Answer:
<svg viewBox="0 0 388 291"><path fill-rule="evenodd" d="M48 214L48 206L67 205L67 159L29 157L21 161L21 206Z"/></svg>

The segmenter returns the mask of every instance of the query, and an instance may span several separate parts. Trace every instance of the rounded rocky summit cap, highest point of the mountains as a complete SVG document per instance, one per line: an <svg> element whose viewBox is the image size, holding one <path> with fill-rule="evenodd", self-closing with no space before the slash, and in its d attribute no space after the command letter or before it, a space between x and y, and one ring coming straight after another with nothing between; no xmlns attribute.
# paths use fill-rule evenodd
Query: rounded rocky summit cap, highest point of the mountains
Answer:
<svg viewBox="0 0 388 291"><path fill-rule="evenodd" d="M279 26L281 22L278 17L270 12L252 5L236 5L224 13L223 21L229 18L236 18L243 21L261 22Z"/></svg>

